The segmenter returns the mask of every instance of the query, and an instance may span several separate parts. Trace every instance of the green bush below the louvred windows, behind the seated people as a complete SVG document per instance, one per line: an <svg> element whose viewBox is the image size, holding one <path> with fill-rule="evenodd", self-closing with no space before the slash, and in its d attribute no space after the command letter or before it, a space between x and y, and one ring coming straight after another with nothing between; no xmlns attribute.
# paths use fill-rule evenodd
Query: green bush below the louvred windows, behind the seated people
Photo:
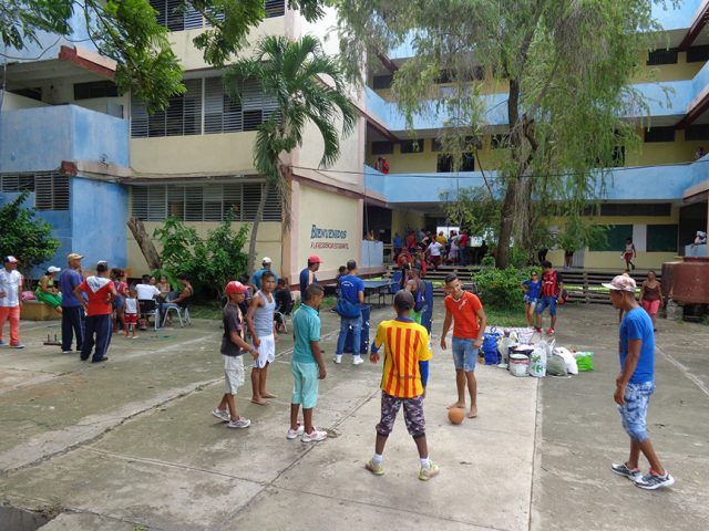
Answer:
<svg viewBox="0 0 709 531"><path fill-rule="evenodd" d="M248 257L243 249L247 233L246 226L234 232L229 216L201 238L194 227L171 217L153 233L162 246L163 264L154 274L165 274L175 287L177 277L187 273L196 293L218 300L226 283L246 272Z"/></svg>

